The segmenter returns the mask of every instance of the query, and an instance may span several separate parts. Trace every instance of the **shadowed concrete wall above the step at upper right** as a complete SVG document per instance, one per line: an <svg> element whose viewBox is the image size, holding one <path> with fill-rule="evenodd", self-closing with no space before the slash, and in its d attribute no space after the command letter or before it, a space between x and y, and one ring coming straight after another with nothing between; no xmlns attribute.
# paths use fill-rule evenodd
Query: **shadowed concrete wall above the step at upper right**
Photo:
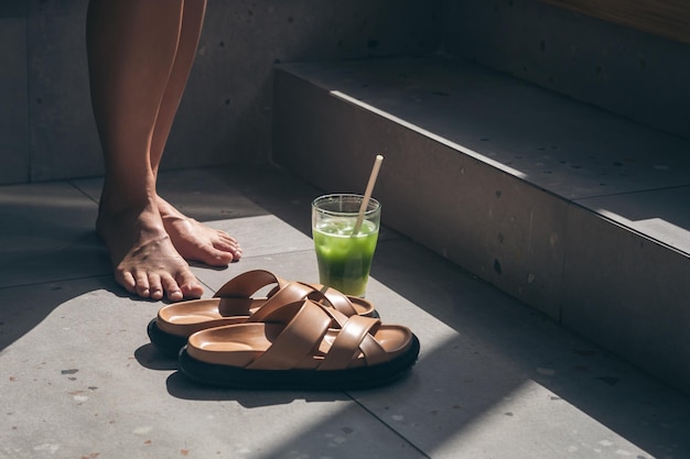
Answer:
<svg viewBox="0 0 690 459"><path fill-rule="evenodd" d="M690 138L690 45L536 0L444 0L451 55Z"/></svg>

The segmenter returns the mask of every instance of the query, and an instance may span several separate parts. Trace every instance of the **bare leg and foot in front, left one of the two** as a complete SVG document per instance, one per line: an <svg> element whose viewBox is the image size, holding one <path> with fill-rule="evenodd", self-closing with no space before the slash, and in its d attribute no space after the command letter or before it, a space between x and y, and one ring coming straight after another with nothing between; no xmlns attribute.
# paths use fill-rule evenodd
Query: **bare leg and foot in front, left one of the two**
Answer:
<svg viewBox="0 0 690 459"><path fill-rule="evenodd" d="M106 163L96 228L118 283L153 299L203 293L165 231L150 154L182 11L183 0L91 0L87 18L91 100Z"/></svg>

